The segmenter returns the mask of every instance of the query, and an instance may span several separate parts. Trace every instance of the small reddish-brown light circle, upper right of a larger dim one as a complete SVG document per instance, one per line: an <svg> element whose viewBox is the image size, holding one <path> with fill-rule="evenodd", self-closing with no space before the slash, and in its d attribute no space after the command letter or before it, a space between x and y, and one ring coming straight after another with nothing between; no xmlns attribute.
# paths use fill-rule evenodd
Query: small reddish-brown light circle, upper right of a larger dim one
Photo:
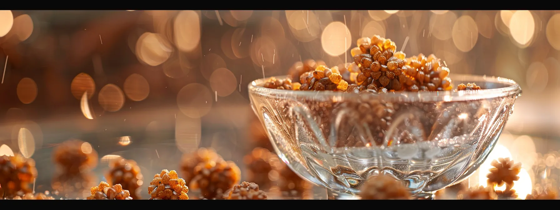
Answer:
<svg viewBox="0 0 560 210"><path fill-rule="evenodd" d="M218 96L228 96L237 89L237 79L227 68L218 68L210 76L210 87Z"/></svg>

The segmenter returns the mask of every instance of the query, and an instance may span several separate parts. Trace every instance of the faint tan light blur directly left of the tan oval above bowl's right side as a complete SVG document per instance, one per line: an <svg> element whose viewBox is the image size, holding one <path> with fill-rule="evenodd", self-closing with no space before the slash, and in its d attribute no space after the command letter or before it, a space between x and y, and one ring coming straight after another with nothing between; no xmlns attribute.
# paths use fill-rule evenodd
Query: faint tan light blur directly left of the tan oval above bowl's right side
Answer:
<svg viewBox="0 0 560 210"><path fill-rule="evenodd" d="M451 30L456 20L457 15L454 12L446 12L441 15L433 14L430 17L431 35L439 40L451 39Z"/></svg>

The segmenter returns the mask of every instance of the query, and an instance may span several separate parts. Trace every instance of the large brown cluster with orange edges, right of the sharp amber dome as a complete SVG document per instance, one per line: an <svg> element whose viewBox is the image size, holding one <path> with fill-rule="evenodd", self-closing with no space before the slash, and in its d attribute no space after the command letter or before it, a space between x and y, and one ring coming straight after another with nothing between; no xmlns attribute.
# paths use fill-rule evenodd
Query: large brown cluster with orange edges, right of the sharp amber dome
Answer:
<svg viewBox="0 0 560 210"><path fill-rule="evenodd" d="M194 168L194 178L189 186L200 189L202 197L222 198L226 190L239 183L241 171L232 161L201 162Z"/></svg>

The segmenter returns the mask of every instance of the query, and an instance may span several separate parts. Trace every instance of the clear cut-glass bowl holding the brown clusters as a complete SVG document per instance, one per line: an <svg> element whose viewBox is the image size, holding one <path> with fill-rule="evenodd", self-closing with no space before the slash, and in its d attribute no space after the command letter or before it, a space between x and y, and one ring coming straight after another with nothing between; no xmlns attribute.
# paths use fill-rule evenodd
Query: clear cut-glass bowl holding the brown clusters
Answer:
<svg viewBox="0 0 560 210"><path fill-rule="evenodd" d="M264 88L260 79L249 95L281 160L329 198L359 199L364 181L381 173L403 181L413 198L429 199L478 169L521 95L506 78L450 77L484 90L290 91Z"/></svg>

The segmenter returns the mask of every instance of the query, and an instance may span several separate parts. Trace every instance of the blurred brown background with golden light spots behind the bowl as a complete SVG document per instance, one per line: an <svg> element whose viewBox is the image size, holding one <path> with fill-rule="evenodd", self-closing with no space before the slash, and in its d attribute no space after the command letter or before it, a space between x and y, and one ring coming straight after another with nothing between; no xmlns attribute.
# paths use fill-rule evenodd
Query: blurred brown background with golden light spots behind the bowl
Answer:
<svg viewBox="0 0 560 210"><path fill-rule="evenodd" d="M351 62L357 39L373 35L407 57L433 53L452 73L520 83L489 159L522 162L521 198L559 189L560 11L0 11L0 155L34 158L39 192L68 139L99 153L99 180L111 157L151 178L198 147L243 171L248 83L306 59ZM469 185L486 185L489 167Z"/></svg>

